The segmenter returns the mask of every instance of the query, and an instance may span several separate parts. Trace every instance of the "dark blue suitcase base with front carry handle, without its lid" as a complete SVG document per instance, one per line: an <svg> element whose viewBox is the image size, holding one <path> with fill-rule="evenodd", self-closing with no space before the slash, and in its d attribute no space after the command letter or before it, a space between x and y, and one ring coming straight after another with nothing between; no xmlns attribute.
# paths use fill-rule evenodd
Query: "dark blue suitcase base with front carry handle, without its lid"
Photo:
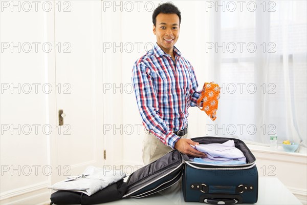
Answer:
<svg viewBox="0 0 307 205"><path fill-rule="evenodd" d="M200 144L224 143L234 140L246 159L245 165L205 165L190 161L185 156L182 191L185 201L210 204L256 203L258 172L256 158L242 140L222 137L192 138Z"/></svg>

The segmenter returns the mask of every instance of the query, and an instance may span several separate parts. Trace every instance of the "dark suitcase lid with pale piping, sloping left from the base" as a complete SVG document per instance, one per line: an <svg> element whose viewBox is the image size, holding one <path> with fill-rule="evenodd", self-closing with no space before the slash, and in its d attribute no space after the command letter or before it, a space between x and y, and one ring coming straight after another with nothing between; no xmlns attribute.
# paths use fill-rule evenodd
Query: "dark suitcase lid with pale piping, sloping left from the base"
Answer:
<svg viewBox="0 0 307 205"><path fill-rule="evenodd" d="M140 198L159 192L176 183L183 167L183 157L178 150L172 150L129 175L125 197Z"/></svg>

